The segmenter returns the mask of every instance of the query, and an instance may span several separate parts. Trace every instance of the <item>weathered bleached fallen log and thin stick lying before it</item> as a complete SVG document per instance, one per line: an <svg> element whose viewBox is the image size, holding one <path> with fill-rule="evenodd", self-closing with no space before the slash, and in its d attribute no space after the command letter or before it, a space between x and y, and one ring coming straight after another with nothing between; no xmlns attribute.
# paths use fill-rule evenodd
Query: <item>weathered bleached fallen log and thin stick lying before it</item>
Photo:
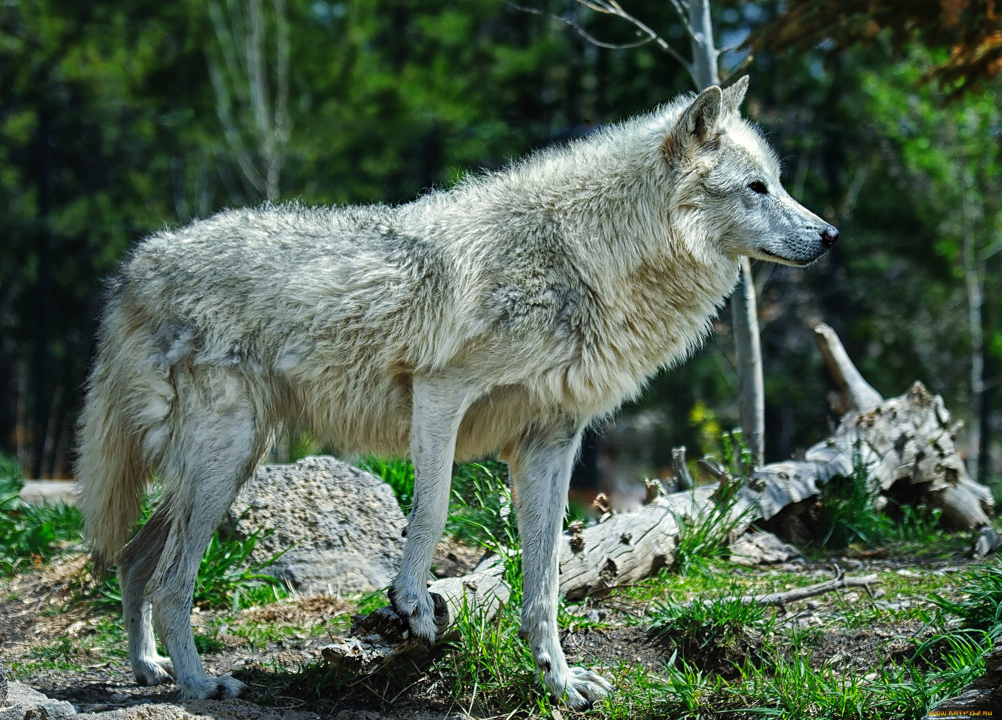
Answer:
<svg viewBox="0 0 1002 720"><path fill-rule="evenodd" d="M976 552L985 554L997 547L998 536L988 525L988 513L993 508L991 494L968 477L954 446L956 427L950 424L943 400L916 383L900 398L885 401L856 370L831 327L821 324L815 331L822 355L840 389L834 407L840 408L844 416L833 437L811 448L804 461L772 463L753 474L730 509L735 530L743 530L753 521L774 518L782 520L785 527L795 525L787 521L816 504L825 483L836 476L850 477L854 465L862 463L875 495L887 494L942 508L944 518L953 524L982 529ZM673 451L672 460L678 484L691 487L684 449ZM701 467L721 483L730 482L719 466L706 463ZM709 485L662 495L650 484L647 504L620 515L612 514L599 499L599 523L588 528L573 523L560 542L560 593L568 599L603 594L669 565L674 559L680 525L704 518L714 506L719 488ZM491 618L508 602L503 576L504 565L493 556L482 560L470 575L445 578L429 587L439 607L448 609L442 639L455 637L456 619L463 612L483 613ZM840 577L811 592L820 594L872 582L870 576ZM792 602L811 597L799 595L808 590L762 596L755 602ZM781 595L784 599L776 600ZM324 656L342 667L367 673L402 654L424 651L406 637L392 611L384 609L381 613L373 620L360 619L351 637L325 648Z"/></svg>

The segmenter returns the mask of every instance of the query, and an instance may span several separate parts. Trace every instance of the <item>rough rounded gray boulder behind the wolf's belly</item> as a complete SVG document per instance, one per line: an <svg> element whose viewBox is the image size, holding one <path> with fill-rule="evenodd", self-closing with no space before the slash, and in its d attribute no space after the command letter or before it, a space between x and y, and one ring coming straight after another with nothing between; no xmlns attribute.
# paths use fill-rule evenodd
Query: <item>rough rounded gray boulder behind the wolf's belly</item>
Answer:
<svg viewBox="0 0 1002 720"><path fill-rule="evenodd" d="M264 572L307 595L385 588L404 552L406 521L390 486L331 457L262 466L233 502L229 524L243 536L274 530L253 559L290 548Z"/></svg>

